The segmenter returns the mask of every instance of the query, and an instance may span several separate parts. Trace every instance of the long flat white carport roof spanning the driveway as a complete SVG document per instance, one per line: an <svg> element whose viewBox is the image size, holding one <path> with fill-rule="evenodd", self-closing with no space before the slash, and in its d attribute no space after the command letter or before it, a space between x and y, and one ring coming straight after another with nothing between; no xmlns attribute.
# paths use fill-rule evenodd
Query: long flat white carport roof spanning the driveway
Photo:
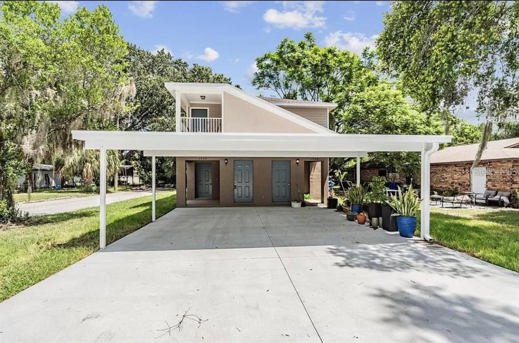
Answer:
<svg viewBox="0 0 519 343"><path fill-rule="evenodd" d="M193 133L72 131L87 149L144 150L147 156L363 157L368 152L421 152L446 135L328 133Z"/></svg>

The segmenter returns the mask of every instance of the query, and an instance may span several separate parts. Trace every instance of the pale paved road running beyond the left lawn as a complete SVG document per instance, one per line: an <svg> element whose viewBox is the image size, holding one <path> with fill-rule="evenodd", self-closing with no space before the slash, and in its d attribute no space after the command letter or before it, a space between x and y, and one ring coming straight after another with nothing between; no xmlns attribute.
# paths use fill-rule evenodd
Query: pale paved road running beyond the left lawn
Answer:
<svg viewBox="0 0 519 343"><path fill-rule="evenodd" d="M130 190L106 195L106 203L112 203L122 200L135 199L152 195L151 191ZM32 215L54 214L77 211L89 207L99 206L99 195L88 197L66 198L56 200L45 200L36 202L19 202L17 208L22 212L29 212Z"/></svg>

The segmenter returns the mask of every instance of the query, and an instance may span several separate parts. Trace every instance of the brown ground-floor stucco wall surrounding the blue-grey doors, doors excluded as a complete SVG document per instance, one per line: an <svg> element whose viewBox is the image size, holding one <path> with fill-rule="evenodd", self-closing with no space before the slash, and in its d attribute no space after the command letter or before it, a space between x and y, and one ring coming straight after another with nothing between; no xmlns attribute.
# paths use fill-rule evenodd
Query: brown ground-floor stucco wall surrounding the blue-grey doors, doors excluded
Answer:
<svg viewBox="0 0 519 343"><path fill-rule="evenodd" d="M202 159L202 160L200 160ZM253 161L253 197L252 203L235 203L234 202L234 160L252 160ZM296 164L296 158L269 158L269 157L257 157L257 158L227 158L228 162L225 165L225 157L212 158L208 157L177 157L176 158L176 175L177 175L177 207L185 207L186 205L186 194L194 195L195 183L194 177L187 177L187 191L186 191L186 165L188 170L192 164L194 166L195 161L213 162L214 166L219 166L218 172L218 183L213 182L213 187L217 184L218 193L220 196L220 206L234 206L234 205L254 205L254 206L267 206L267 205L288 205L289 203L272 203L272 160L290 160L290 199L297 198L298 190L302 193L307 192L308 180L305 179L305 174L308 175L308 168L311 161L321 161L321 188L322 188L322 201L326 202L328 196L328 159L305 159L301 158L299 165ZM187 163L186 163L187 162ZM306 163L305 163L306 162ZM305 168L306 167L306 168ZM194 170L194 168L193 168ZM215 180L216 171L213 169L213 180ZM193 190L191 190L193 189ZM215 197L215 189L213 188L213 199ZM190 198L188 198L191 200Z"/></svg>

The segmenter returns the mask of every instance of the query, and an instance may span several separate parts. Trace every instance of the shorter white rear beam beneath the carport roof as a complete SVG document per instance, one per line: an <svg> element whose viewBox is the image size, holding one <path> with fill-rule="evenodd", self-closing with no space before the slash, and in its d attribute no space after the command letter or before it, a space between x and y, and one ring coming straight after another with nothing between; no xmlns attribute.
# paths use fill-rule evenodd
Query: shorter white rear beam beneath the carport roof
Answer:
<svg viewBox="0 0 519 343"><path fill-rule="evenodd" d="M167 157L367 157L365 152L334 152L334 151L237 151L237 150L144 150L144 156Z"/></svg>

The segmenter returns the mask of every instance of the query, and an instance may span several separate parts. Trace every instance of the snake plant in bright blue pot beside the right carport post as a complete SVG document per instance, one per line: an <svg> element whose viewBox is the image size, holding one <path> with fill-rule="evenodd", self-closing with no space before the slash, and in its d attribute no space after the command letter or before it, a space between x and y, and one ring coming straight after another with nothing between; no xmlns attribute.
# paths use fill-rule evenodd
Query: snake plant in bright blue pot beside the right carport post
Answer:
<svg viewBox="0 0 519 343"><path fill-rule="evenodd" d="M413 191L413 185L409 186L407 193L402 195L402 189L398 188L398 198L391 195L389 203L394 209L393 216L397 216L398 232L400 236L412 238L416 230L416 213L420 209L420 199Z"/></svg>

